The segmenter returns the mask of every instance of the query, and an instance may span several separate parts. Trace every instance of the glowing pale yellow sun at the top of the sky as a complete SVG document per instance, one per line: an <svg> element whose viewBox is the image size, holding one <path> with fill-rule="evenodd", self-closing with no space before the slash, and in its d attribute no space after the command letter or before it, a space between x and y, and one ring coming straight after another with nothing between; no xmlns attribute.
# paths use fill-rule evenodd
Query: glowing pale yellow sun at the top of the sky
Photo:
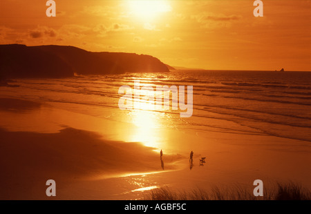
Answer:
<svg viewBox="0 0 311 214"><path fill-rule="evenodd" d="M131 14L141 19L150 19L162 12L171 11L171 6L167 1L129 1L129 8Z"/></svg>

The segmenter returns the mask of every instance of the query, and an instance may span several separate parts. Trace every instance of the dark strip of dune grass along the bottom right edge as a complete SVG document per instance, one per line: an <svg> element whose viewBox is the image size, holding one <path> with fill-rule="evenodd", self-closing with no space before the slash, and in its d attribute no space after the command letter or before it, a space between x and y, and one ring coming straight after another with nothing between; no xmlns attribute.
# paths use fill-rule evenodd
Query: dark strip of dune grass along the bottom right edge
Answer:
<svg viewBox="0 0 311 214"><path fill-rule="evenodd" d="M252 188L240 185L225 188L214 186L209 191L202 188L172 191L164 186L144 193L144 200L311 200L311 193L294 182L276 182L272 188L264 188L263 197L255 197Z"/></svg>

